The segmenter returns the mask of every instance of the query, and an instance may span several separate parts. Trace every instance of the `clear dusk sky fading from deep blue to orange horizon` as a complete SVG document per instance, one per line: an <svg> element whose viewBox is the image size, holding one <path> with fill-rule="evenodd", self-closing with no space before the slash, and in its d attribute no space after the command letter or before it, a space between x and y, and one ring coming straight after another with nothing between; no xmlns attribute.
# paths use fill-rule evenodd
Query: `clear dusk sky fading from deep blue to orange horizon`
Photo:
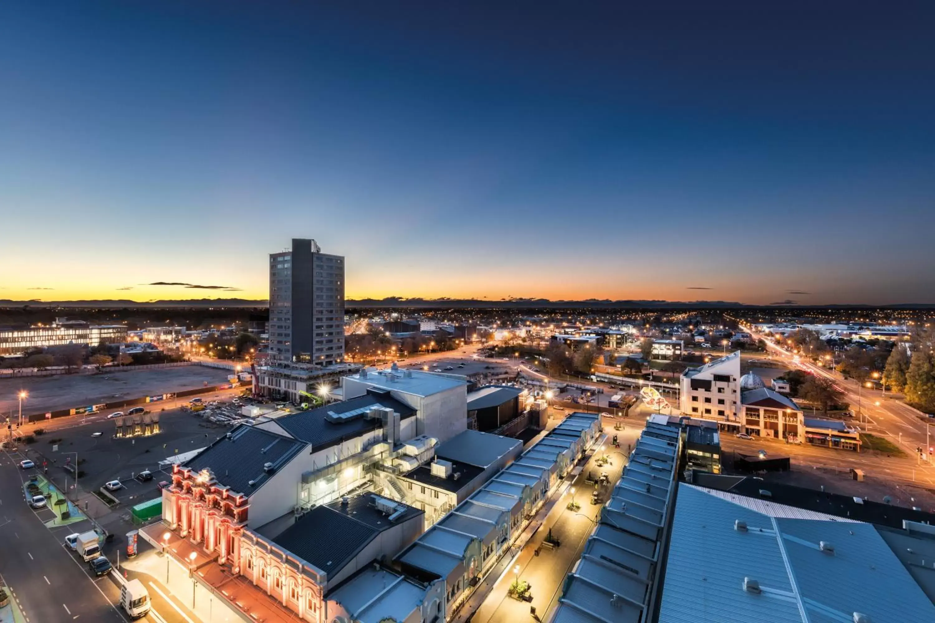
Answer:
<svg viewBox="0 0 935 623"><path fill-rule="evenodd" d="M265 299L310 237L351 299L935 303L932 32L931 2L8 0L0 299Z"/></svg>

